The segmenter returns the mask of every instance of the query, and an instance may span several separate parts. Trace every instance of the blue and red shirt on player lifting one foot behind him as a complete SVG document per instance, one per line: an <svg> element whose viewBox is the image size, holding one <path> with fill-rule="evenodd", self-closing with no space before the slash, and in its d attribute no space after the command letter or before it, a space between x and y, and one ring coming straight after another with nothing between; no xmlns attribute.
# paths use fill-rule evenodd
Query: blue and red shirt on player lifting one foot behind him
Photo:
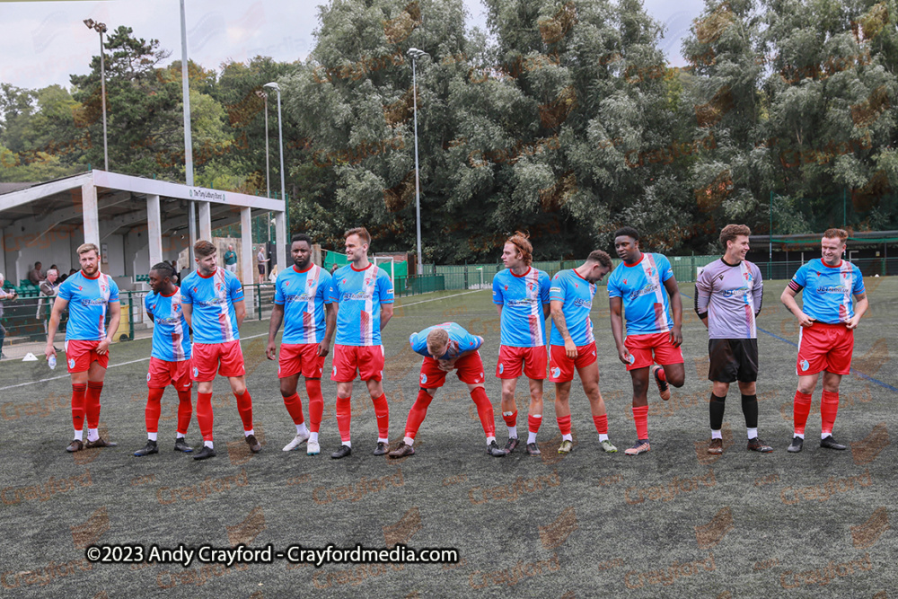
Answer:
<svg viewBox="0 0 898 599"><path fill-rule="evenodd" d="M621 297L628 335L652 335L671 330L670 299L665 281L674 276L662 254L642 252L636 264L621 262L608 277L608 296Z"/></svg>

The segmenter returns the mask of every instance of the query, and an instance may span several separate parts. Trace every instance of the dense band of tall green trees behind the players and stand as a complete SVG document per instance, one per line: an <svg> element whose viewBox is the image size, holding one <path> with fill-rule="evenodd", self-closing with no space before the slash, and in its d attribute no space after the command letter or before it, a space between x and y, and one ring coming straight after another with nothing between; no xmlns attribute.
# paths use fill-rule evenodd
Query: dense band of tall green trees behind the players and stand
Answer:
<svg viewBox="0 0 898 599"><path fill-rule="evenodd" d="M732 221L898 228L895 0L709 1L677 68L639 0L485 4L489 32L465 30L461 0L331 0L304 62L191 64L197 183L265 192L260 92L278 81L292 228L339 246L365 224L376 251L412 250L422 48L428 262L495 259L517 229L559 258L625 223L699 252ZM106 48L110 169L183 181L180 63L127 27ZM0 180L101 165L99 90L99 57L69 90L2 84Z"/></svg>

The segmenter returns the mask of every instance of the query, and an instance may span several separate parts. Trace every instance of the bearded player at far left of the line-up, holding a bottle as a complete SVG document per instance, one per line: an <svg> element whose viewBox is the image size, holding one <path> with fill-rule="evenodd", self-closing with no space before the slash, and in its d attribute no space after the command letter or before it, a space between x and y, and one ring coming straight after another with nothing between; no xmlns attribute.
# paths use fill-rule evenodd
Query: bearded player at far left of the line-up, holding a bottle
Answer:
<svg viewBox="0 0 898 599"><path fill-rule="evenodd" d="M104 441L100 426L100 393L109 366L109 347L112 336L119 329L119 286L112 277L100 272L100 250L93 243L78 248L81 271L68 277L59 286L53 312L47 327L47 359L56 356L53 339L59 328L63 310L68 308L66 324L66 366L72 376L72 423L75 439L67 452L84 448L111 447ZM110 326L104 327L107 309ZM84 419L87 419L87 443L84 443Z"/></svg>

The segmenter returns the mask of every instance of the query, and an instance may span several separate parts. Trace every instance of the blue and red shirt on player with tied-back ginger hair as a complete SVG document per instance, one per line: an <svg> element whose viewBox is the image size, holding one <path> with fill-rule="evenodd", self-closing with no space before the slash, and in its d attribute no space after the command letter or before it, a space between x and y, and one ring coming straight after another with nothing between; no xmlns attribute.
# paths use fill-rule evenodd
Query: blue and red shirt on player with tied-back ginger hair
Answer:
<svg viewBox="0 0 898 599"><path fill-rule="evenodd" d="M493 277L493 304L502 306L500 343L510 348L538 348L546 344L542 305L549 304L549 275L530 267L523 275L511 269Z"/></svg>

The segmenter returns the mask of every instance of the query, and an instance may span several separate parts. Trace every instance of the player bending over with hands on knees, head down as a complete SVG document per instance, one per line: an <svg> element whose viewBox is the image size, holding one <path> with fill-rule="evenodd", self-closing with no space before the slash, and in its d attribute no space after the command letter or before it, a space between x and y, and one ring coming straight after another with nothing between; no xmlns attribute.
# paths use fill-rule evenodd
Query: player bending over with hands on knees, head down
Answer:
<svg viewBox="0 0 898 599"><path fill-rule="evenodd" d="M493 406L483 387L483 362L478 351L483 338L471 335L455 322L444 322L419 333L412 333L409 343L413 350L424 356L424 363L421 364L421 390L405 423L405 439L390 452L390 457L400 458L415 453L415 435L427 416L427 406L433 401L436 390L445 383L446 374L453 370L458 371L458 379L468 385L471 400L477 406L480 425L487 434L487 453L493 457L505 456L505 450L496 444Z"/></svg>

